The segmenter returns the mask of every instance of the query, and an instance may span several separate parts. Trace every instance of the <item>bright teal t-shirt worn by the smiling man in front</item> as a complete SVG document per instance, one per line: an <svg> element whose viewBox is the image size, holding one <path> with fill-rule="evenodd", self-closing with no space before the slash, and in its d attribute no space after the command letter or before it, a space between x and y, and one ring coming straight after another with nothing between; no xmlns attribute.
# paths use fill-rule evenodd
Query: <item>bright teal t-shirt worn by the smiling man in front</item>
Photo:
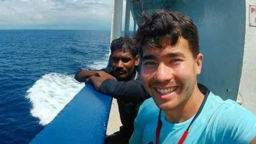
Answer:
<svg viewBox="0 0 256 144"><path fill-rule="evenodd" d="M134 122L131 144L155 143L158 113L159 109L152 98L142 104ZM178 143L192 119L177 124L169 123L162 111L160 143ZM235 101L223 101L210 93L184 143L250 143L254 137L256 116Z"/></svg>

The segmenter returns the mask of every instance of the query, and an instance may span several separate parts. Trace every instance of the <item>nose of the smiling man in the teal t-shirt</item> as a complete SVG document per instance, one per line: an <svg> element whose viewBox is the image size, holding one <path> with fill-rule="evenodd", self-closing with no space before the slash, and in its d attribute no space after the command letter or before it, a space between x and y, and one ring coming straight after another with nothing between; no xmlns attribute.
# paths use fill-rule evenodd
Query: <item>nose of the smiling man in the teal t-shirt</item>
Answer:
<svg viewBox="0 0 256 144"><path fill-rule="evenodd" d="M170 81L173 78L172 69L161 63L157 67L154 78L157 82Z"/></svg>

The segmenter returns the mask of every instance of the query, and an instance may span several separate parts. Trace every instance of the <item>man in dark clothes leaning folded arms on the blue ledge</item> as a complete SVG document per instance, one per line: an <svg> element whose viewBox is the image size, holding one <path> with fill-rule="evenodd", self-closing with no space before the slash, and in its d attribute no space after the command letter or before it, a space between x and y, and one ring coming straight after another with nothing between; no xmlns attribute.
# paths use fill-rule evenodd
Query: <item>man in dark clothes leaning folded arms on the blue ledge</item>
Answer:
<svg viewBox="0 0 256 144"><path fill-rule="evenodd" d="M108 135L105 143L129 143L133 122L141 103L149 98L138 77L138 49L132 38L114 39L110 46L110 68L81 70L75 75L79 82L90 83L95 90L117 99L122 126L118 132Z"/></svg>

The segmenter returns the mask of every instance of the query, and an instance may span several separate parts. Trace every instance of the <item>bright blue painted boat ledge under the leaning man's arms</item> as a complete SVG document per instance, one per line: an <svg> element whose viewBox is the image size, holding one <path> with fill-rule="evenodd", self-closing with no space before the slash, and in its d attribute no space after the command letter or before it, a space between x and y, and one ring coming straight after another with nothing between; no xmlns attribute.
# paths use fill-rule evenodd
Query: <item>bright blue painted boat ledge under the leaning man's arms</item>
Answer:
<svg viewBox="0 0 256 144"><path fill-rule="evenodd" d="M111 101L86 85L31 143L103 143Z"/></svg>

